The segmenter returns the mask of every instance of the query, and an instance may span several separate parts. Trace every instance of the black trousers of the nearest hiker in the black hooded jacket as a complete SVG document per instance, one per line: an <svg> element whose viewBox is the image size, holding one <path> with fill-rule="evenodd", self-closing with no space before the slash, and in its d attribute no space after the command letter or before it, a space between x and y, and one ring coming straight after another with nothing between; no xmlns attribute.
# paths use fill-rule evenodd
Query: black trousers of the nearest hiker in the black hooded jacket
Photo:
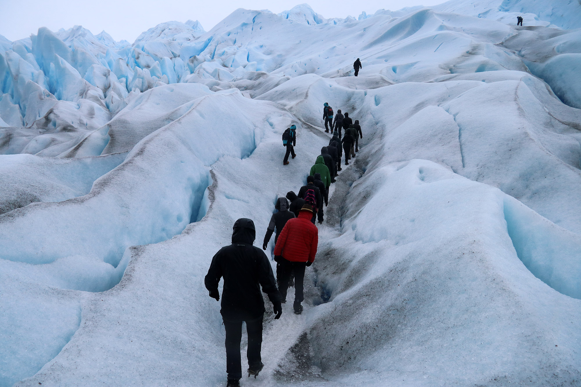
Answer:
<svg viewBox="0 0 581 387"><path fill-rule="evenodd" d="M260 349L262 347L262 319L260 317L253 320L246 320L246 332L248 332L248 366L256 367L262 360ZM242 365L240 359L240 341L242 340L242 320L224 320L226 328L226 372L229 380L242 378Z"/></svg>

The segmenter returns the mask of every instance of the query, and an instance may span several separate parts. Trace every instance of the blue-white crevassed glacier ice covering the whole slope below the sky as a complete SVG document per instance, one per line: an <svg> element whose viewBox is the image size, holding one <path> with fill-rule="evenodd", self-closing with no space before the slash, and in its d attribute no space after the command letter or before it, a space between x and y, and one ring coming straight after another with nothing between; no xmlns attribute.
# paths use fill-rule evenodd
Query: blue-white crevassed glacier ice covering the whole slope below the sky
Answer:
<svg viewBox="0 0 581 387"><path fill-rule="evenodd" d="M0 91L0 386L225 385L203 277L304 184L325 102L360 152L242 385L581 386L580 0L41 27L0 36Z"/></svg>

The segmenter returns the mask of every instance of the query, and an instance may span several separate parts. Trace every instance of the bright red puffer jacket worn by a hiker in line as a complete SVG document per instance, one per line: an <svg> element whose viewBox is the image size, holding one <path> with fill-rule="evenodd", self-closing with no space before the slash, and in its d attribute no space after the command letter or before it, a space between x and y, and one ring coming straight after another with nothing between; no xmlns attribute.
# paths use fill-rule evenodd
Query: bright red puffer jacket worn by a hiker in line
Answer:
<svg viewBox="0 0 581 387"><path fill-rule="evenodd" d="M317 254L319 231L311 218L313 213L307 210L299 212L299 217L289 219L278 236L274 246L274 255L282 255L294 262L313 262Z"/></svg>

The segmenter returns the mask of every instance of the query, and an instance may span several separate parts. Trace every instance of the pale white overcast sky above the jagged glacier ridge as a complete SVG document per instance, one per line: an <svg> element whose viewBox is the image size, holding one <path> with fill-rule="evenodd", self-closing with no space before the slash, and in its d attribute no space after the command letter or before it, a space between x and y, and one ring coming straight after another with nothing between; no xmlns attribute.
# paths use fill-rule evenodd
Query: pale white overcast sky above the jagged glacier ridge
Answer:
<svg viewBox="0 0 581 387"><path fill-rule="evenodd" d="M397 10L405 6L436 5L446 0L311 0L324 17L357 17L361 11ZM305 2L267 0L0 0L0 35L11 41L36 34L38 27L52 31L81 25L98 34L131 43L148 28L162 22L199 20L209 31L237 8L269 9L279 13Z"/></svg>

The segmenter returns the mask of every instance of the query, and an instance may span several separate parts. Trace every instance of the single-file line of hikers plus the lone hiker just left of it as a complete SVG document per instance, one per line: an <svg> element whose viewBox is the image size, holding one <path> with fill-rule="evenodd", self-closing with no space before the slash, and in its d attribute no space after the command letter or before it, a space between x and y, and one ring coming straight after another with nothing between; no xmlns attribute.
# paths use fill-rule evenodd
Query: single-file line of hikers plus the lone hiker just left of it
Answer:
<svg viewBox="0 0 581 387"><path fill-rule="evenodd" d="M325 132L329 132L327 123L333 118L333 110L326 102L324 112L327 129ZM242 322L246 322L248 334L248 376L254 375L256 378L264 367L260 351L266 309L260 287L272 303L275 320L282 315L282 303L286 303L289 286L295 287L295 314L303 311L304 271L311 266L317 254L318 229L315 220L318 218L320 224L323 222L323 205L328 205L329 187L341 170L339 144L343 145L347 165L350 157L358 152L358 137L363 138L359 121L356 120L353 124L349 114L345 113L343 116L340 110L335 116L333 126L333 137L328 146L321 148L321 155L317 156L307 176L307 184L299 189L298 195L289 191L286 197L278 198L275 203L277 212L272 214L262 248L267 249L268 242L275 233L276 281L268 257L263 250L253 246L256 228L249 218L236 220L231 245L221 248L212 258L204 282L210 297L219 301L218 283L224 278L220 313L226 331L227 387L239 386L242 378ZM342 128L345 130L343 139L340 134ZM289 155L293 159L296 157L296 126L291 125L284 133L282 141L286 146L286 153L283 163L286 165L289 163Z"/></svg>

